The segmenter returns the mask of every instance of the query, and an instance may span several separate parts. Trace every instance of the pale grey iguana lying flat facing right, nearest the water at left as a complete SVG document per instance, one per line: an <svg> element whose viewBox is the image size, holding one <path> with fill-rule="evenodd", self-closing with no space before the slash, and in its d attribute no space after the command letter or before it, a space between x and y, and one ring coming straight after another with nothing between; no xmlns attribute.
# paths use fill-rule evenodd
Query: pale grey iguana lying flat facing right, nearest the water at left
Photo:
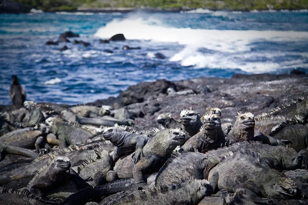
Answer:
<svg viewBox="0 0 308 205"><path fill-rule="evenodd" d="M109 108L109 109L108 109ZM102 106L102 107L95 107L95 106L87 106L87 105L78 105L69 107L71 111L73 111L76 115L82 117L97 117L97 116L104 116L110 115L110 107Z"/></svg>

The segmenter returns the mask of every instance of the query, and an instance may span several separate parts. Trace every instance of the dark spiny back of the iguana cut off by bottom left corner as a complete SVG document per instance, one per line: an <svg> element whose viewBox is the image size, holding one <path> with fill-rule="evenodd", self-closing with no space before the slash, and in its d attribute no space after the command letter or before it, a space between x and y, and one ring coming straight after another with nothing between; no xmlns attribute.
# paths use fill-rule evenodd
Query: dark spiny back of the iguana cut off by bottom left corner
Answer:
<svg viewBox="0 0 308 205"><path fill-rule="evenodd" d="M0 187L0 203L2 205L57 205L59 202L49 201L38 197L27 190L13 190Z"/></svg>

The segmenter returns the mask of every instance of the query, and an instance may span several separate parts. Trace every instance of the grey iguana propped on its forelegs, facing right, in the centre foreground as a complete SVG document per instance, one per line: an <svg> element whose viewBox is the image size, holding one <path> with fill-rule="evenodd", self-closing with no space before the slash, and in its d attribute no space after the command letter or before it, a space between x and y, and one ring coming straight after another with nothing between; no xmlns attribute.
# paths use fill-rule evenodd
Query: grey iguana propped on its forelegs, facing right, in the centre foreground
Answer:
<svg viewBox="0 0 308 205"><path fill-rule="evenodd" d="M120 178L133 176L136 185L143 186L144 174L155 172L171 155L172 151L186 140L186 135L179 129L156 129L151 140L143 147L143 157L134 164L133 154L121 157L114 166Z"/></svg>

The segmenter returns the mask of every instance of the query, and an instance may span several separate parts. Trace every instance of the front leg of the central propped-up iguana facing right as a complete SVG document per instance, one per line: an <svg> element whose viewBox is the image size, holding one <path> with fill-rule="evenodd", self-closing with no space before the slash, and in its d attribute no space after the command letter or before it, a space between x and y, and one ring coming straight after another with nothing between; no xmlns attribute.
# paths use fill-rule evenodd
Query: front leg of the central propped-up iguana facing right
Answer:
<svg viewBox="0 0 308 205"><path fill-rule="evenodd" d="M136 185L140 186L145 185L146 181L144 180L143 172L153 167L155 165L156 160L157 160L156 156L151 156L151 158L143 157L133 167L132 176Z"/></svg>

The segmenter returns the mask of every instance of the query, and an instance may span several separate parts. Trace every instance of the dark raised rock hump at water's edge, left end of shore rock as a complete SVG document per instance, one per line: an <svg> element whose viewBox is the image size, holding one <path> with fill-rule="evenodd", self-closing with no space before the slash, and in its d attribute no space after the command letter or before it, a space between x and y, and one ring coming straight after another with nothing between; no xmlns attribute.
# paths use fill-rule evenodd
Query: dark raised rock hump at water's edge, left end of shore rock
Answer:
<svg viewBox="0 0 308 205"><path fill-rule="evenodd" d="M177 91L176 85L168 80L157 80L153 83L144 82L136 86L130 86L120 95L122 103L129 105L132 103L142 103L150 96L158 96L160 93L165 94L168 88L173 88Z"/></svg>

